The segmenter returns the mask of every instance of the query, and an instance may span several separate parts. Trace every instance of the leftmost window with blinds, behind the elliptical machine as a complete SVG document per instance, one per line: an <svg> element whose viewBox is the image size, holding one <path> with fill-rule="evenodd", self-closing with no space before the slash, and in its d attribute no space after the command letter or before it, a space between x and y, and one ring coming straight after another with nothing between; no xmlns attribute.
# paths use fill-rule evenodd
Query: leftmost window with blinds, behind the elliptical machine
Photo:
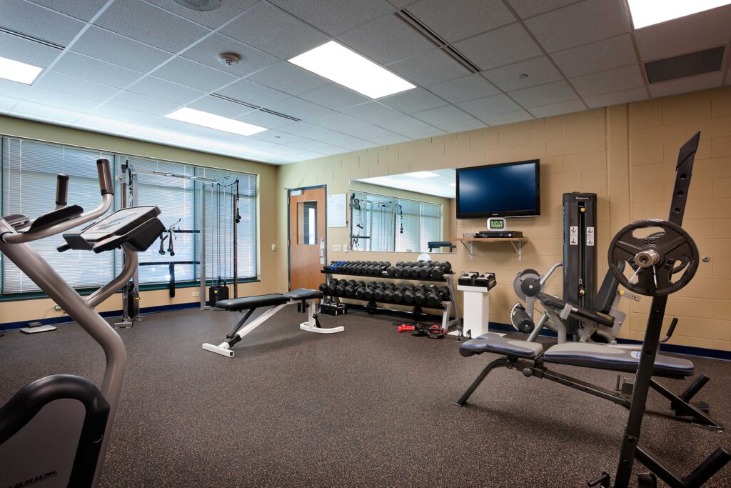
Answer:
<svg viewBox="0 0 731 488"><path fill-rule="evenodd" d="M66 173L70 177L69 205L91 210L101 203L96 159L111 161L112 154L16 138L2 138L1 143L1 214L26 214L34 218L53 211L56 208L58 173ZM63 242L63 237L53 236L33 241L30 245L75 288L96 288L113 278L113 252L97 255L67 251L61 254L56 247ZM10 260L4 256L1 259L1 293L39 290Z"/></svg>

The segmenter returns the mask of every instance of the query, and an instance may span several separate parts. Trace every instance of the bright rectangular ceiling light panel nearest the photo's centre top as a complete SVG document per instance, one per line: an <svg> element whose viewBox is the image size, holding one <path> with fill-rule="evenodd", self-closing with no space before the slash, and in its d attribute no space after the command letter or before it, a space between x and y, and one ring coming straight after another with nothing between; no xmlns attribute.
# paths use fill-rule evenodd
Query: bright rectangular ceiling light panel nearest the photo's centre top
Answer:
<svg viewBox="0 0 731 488"><path fill-rule="evenodd" d="M335 41L308 50L290 63L332 80L366 97L380 98L416 88L400 76L380 67Z"/></svg>

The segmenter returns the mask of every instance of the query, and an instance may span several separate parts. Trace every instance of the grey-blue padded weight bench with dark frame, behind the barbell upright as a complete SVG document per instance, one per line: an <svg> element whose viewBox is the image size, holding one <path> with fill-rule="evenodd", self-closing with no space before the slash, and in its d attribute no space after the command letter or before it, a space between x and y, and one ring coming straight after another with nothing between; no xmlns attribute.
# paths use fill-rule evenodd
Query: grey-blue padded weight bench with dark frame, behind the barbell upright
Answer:
<svg viewBox="0 0 731 488"><path fill-rule="evenodd" d="M594 395L595 397L607 399L624 408L632 405L631 383L621 386L616 391L588 383L577 378L572 378L558 372L551 371L545 365L568 364L577 367L593 369L605 369L616 372L636 373L640 364L640 351L613 348L607 345L599 345L591 342L564 342L553 345L543 350L543 345L538 342L529 342L510 337L502 337L499 334L488 332L476 339L463 342L459 352L462 356L469 357L482 353L499 354L501 358L491 361L469 388L462 394L455 405L464 405L477 386L480 386L485 377L497 367L516 369L527 378L536 376L547 380L561 383L562 385L575 388L579 391ZM694 366L687 359L675 358L658 354L655 357L653 376L660 378L684 379L692 376ZM700 427L713 429L721 432L724 427L708 415L710 407L705 402L691 403L692 397L700 391L708 377L700 375L696 380L683 391L676 395L668 390L654 378L651 379L651 388L670 401L670 408L677 418L691 418L694 424Z"/></svg>

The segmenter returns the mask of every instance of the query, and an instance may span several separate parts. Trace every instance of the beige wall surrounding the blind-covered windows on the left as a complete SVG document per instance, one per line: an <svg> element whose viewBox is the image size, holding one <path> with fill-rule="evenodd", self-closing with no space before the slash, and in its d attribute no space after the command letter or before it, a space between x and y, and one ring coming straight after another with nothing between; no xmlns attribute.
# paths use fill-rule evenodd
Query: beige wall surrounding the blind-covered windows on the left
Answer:
<svg viewBox="0 0 731 488"><path fill-rule="evenodd" d="M276 214L274 211L274 193L276 188L277 167L265 165L259 162L251 162L245 159L206 154L198 151L189 151L170 146L162 146L154 143L145 143L139 140L119 138L112 135L97 134L67 127L58 127L50 124L15 119L7 116L0 116L0 135L15 136L43 140L53 143L79 146L89 149L99 149L119 154L150 157L155 159L167 159L170 161L186 162L194 165L222 168L236 171L244 171L259 175L259 262L260 282L242 283L239 285L239 296L257 295L261 293L272 293L276 288L276 279L273 270L276 269L275 252L271 250L271 244L275 242L275 229L266 222L273 222ZM71 181L73 184L73 181ZM286 249L286 248L285 248ZM141 307L156 307L167 304L181 304L197 301L192 296L198 288L180 288L171 299L167 290L150 290L141 293ZM99 311L121 309L121 294L110 297L107 301L97 307ZM61 312L53 310L53 302L49 299L5 301L0 302L0 323L16 322L20 320L33 320L43 315L48 318L61 315Z"/></svg>

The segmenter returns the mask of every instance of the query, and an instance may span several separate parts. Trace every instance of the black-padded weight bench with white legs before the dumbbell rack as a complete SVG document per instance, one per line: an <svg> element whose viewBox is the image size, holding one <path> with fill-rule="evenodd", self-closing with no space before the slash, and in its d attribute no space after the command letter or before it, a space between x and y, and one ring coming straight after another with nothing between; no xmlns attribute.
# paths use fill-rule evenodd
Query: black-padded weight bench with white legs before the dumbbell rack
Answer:
<svg viewBox="0 0 731 488"><path fill-rule="evenodd" d="M317 313L315 313L315 300L322 299L322 292L319 290L308 290L306 288L298 288L289 293L273 293L271 295L246 296L241 299L229 299L216 302L216 308L227 310L228 312L244 312L246 314L238 321L230 334L227 334L226 340L219 345L204 344L203 349L210 350L212 353L220 354L232 358L234 351L231 349L233 345L238 343L246 334L256 329L262 323L265 323L272 315L279 310L287 307L287 305L301 304L302 312L307 314L307 321L300 323L300 329L308 332L316 332L317 334L334 334L342 332L344 327L333 327L332 329L322 329ZM259 315L251 322L246 323L251 314L257 308L269 307L269 309ZM245 325L246 324L246 325Z"/></svg>

